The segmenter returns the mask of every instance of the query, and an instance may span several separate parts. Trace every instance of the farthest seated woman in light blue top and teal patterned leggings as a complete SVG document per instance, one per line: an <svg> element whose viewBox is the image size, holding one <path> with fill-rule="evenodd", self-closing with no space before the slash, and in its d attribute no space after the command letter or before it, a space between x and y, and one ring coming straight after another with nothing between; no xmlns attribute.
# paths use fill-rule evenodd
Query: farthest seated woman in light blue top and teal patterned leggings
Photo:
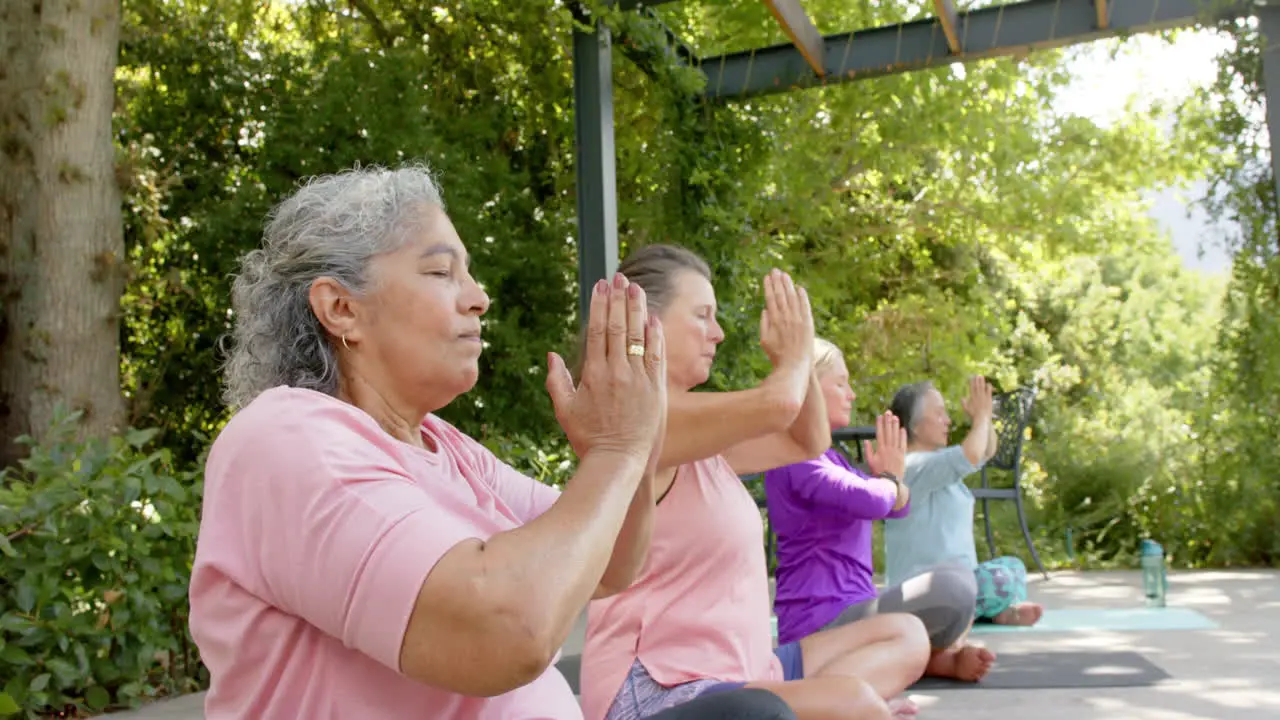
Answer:
<svg viewBox="0 0 1280 720"><path fill-rule="evenodd" d="M909 384L893 396L891 410L906 428L906 473L911 512L884 521L888 584L940 564L959 564L978 580L977 621L1034 625L1044 609L1027 602L1027 568L1016 557L978 562L973 539L973 493L965 475L996 455L991 386L969 382L964 410L973 420L960 445L947 447L951 418L942 393L929 382Z"/></svg>

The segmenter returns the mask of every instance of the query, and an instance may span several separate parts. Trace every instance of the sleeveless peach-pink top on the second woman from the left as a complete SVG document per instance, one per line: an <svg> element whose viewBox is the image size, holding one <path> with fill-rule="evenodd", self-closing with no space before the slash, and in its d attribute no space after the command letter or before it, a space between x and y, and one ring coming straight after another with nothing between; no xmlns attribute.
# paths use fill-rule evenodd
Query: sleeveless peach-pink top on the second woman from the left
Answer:
<svg viewBox="0 0 1280 720"><path fill-rule="evenodd" d="M582 711L604 717L636 659L659 684L782 680L764 524L730 464L681 465L631 588L588 606Z"/></svg>

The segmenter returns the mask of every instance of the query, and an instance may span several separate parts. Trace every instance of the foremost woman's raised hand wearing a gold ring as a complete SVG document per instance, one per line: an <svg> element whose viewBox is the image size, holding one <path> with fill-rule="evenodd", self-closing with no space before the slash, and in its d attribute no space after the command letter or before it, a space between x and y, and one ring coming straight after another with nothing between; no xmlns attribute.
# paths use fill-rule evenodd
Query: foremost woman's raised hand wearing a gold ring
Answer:
<svg viewBox="0 0 1280 720"><path fill-rule="evenodd" d="M631 355L632 347L644 352ZM548 365L547 392L579 457L621 452L652 465L667 415L667 364L640 286L621 274L595 284L577 387L559 355L549 354Z"/></svg>

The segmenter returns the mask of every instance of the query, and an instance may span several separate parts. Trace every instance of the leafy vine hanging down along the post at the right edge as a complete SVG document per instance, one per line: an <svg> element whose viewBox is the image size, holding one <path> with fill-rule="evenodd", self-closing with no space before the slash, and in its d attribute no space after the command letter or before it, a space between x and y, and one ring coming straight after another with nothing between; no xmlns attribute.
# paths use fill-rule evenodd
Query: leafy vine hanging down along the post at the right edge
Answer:
<svg viewBox="0 0 1280 720"><path fill-rule="evenodd" d="M1204 438L1206 509L1216 532L1197 559L1275 564L1280 559L1280 225L1267 142L1258 26L1222 24L1235 47L1217 81L1183 108L1189 143L1215 149L1208 214L1230 232L1231 278L1217 336L1212 391L1198 418ZM1275 99L1272 99L1275 101Z"/></svg>

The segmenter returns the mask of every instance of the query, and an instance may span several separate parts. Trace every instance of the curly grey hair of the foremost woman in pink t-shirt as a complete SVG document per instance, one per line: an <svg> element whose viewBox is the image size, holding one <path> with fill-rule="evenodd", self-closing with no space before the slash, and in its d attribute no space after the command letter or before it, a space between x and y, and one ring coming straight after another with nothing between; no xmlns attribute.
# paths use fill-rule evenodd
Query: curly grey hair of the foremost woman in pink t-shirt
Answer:
<svg viewBox="0 0 1280 720"><path fill-rule="evenodd" d="M311 178L276 205L262 247L232 284L232 347L223 400L248 405L276 386L338 391L333 338L311 310L311 283L330 277L369 291L375 256L401 247L428 206L444 209L430 169L367 167Z"/></svg>

